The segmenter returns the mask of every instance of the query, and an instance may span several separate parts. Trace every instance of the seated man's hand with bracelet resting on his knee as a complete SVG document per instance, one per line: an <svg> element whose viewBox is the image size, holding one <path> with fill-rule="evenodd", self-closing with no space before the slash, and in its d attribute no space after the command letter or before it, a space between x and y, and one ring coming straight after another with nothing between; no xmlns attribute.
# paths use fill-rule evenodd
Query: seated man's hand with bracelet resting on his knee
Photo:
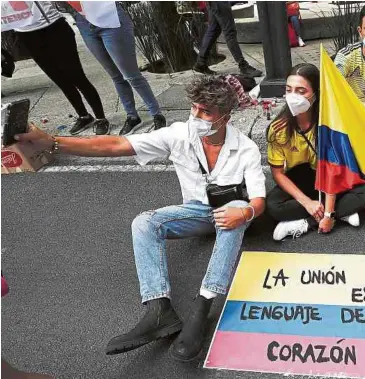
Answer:
<svg viewBox="0 0 365 379"><path fill-rule="evenodd" d="M213 210L215 224L219 229L235 229L245 222L252 221L255 209L252 205L245 208L221 207Z"/></svg>

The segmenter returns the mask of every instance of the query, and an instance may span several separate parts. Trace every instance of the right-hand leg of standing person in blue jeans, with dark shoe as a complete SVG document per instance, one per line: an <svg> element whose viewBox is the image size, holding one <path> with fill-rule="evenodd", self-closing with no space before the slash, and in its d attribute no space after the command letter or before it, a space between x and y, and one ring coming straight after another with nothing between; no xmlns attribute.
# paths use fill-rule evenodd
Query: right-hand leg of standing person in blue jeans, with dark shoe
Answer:
<svg viewBox="0 0 365 379"><path fill-rule="evenodd" d="M150 85L139 71L132 21L121 6L118 5L117 9L121 26L113 29L102 29L100 35L106 50L123 77L147 105L150 114L153 116L155 129L160 129L166 126L166 120L161 114Z"/></svg>

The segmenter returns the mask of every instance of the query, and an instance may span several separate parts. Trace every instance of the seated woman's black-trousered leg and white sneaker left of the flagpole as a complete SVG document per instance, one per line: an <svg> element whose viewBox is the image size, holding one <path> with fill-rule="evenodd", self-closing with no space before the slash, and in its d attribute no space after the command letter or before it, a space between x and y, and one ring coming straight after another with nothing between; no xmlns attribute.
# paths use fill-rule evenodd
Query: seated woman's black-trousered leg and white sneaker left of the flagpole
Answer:
<svg viewBox="0 0 365 379"><path fill-rule="evenodd" d="M318 192L314 187L316 174L309 164L296 166L286 175L306 196L312 200L318 200ZM303 205L278 185L268 193L266 209L271 217L279 221L273 235L277 241L288 235L293 238L299 237L310 228L317 226L317 222L308 214Z"/></svg>

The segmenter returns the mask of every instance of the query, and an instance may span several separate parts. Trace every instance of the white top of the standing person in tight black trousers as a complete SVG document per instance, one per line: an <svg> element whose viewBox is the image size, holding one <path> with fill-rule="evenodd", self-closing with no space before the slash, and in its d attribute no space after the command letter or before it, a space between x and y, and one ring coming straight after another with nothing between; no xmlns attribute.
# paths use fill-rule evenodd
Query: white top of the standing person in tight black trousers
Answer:
<svg viewBox="0 0 365 379"><path fill-rule="evenodd" d="M27 1L26 3L29 4L33 17L30 23L28 22L24 26L14 27L14 30L17 32L33 32L34 30L44 29L63 17L62 14L58 12L57 8L50 1L38 2L38 4L42 7L43 12L47 16L49 22L41 14L34 1Z"/></svg>

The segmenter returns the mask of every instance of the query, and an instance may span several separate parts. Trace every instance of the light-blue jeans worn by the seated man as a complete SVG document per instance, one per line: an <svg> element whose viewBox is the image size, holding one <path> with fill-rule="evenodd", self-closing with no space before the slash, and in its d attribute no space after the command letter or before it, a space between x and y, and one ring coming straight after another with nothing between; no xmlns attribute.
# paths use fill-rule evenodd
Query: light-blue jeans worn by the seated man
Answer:
<svg viewBox="0 0 365 379"><path fill-rule="evenodd" d="M236 200L225 207L245 207ZM213 208L201 202L172 205L137 216L132 223L132 237L142 302L171 297L167 269L166 239L199 237L217 233L202 288L227 292L243 236L250 223L236 229L222 230L215 226Z"/></svg>

